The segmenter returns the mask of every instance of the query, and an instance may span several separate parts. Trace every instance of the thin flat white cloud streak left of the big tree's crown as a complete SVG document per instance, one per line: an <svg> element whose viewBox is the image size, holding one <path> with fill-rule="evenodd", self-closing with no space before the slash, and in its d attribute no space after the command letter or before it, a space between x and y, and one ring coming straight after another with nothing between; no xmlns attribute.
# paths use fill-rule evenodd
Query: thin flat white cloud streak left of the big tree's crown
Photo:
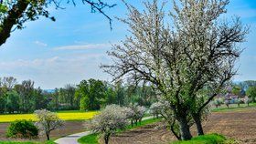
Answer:
<svg viewBox="0 0 256 144"><path fill-rule="evenodd" d="M55 50L83 50L83 49L98 49L109 48L111 44L88 44L88 45L73 45L73 46L59 46L55 47Z"/></svg>

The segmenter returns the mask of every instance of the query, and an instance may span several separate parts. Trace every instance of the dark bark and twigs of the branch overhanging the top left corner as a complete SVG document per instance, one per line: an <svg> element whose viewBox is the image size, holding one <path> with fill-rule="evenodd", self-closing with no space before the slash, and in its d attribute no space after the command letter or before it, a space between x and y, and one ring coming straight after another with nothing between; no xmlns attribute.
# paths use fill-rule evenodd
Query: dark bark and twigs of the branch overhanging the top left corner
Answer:
<svg viewBox="0 0 256 144"><path fill-rule="evenodd" d="M14 5L7 5L12 7L10 10L8 10L8 12L6 13L6 17L3 18L2 23L0 24L0 46L2 46L3 44L5 44L6 40L11 36L11 32L15 29L15 26L18 27L18 29L21 29L21 26L23 23L25 23L28 20L36 20L37 16L39 15L44 15L48 18L50 18L51 20L55 21L54 17L49 17L48 16L48 11L46 10L48 8L48 4L53 3L54 5L56 5L56 8L59 8L60 6L60 2L58 0L51 0L51 1L46 1L45 6L38 8L39 11L41 10L45 10L45 12L38 12L38 13L42 13L42 14L38 14L38 15L26 15L27 11L29 11L29 9L31 7L33 7L34 4L31 4L31 1L28 0L17 0L16 4ZM73 4L75 4L75 1L72 0ZM2 4L3 1L0 0L0 4ZM38 2L41 3L41 2ZM112 18L109 15L106 15L103 11L104 8L108 7L108 8L112 8L114 7L116 4L113 5L109 5L108 3L103 3L101 2L101 0L97 0L97 1L93 1L93 0L82 0L83 4L88 4L91 5L91 12L95 13L95 12L99 12L101 13L101 15L104 15L105 17L107 17L109 19L110 22L110 26L112 29ZM31 7L30 7L31 6ZM28 13L33 13L35 14L35 12L28 12ZM23 21L20 22L20 19L23 19ZM19 26L20 25L20 26Z"/></svg>

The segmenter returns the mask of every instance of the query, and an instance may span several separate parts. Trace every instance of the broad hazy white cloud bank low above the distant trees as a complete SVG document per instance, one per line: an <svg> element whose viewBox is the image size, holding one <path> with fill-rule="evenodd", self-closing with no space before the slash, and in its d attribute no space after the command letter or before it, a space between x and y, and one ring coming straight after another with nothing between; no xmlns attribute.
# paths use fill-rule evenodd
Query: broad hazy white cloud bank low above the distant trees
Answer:
<svg viewBox="0 0 256 144"><path fill-rule="evenodd" d="M99 67L109 62L105 54L98 53L2 61L0 77L13 76L19 81L32 79L42 88L63 87L69 83L79 84L82 79L111 79Z"/></svg>

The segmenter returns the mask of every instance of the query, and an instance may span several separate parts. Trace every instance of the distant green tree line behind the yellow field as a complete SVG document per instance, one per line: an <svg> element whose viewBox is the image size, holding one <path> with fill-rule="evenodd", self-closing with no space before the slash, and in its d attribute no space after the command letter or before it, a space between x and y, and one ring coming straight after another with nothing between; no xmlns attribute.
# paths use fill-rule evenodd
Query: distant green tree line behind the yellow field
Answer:
<svg viewBox="0 0 256 144"><path fill-rule="evenodd" d="M122 81L111 84L91 78L80 81L79 85L68 84L48 91L35 87L32 80L17 83L15 77L0 78L0 113L32 113L42 108L99 110L110 104L149 107L153 102L155 92L152 87L124 85Z"/></svg>

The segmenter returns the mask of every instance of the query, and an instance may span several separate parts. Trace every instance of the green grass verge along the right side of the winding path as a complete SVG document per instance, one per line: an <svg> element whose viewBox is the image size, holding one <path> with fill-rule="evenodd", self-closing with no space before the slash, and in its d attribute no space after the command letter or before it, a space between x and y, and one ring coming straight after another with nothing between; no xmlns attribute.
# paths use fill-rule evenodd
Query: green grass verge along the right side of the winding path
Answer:
<svg viewBox="0 0 256 144"><path fill-rule="evenodd" d="M143 120L141 123L138 123L137 126L133 125L133 127L132 127L132 125L128 125L125 129L118 129L117 133L123 132L124 130L129 130L129 129L135 129L135 128L143 127L145 125L152 124L152 123L158 122L160 120L161 120L161 118L146 119L146 120ZM90 135L87 135L87 136L84 136L84 137L80 138L78 140L78 142L80 144L99 144L98 143L98 139L99 139L99 134L90 134Z"/></svg>

